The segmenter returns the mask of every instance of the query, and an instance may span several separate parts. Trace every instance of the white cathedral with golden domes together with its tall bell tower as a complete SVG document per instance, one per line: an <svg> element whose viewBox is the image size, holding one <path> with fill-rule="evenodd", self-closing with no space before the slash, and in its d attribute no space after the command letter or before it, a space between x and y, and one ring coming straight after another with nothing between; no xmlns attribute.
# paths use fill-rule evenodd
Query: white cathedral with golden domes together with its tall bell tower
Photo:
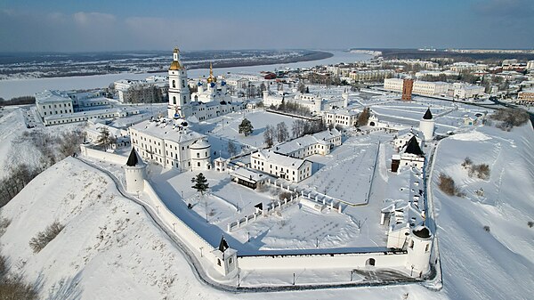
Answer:
<svg viewBox="0 0 534 300"><path fill-rule="evenodd" d="M169 118L194 117L203 121L240 110L242 105L242 102L233 103L224 79L217 82L211 63L209 77L198 80L197 92L190 93L187 69L180 61L180 50L174 48L173 62L169 67Z"/></svg>

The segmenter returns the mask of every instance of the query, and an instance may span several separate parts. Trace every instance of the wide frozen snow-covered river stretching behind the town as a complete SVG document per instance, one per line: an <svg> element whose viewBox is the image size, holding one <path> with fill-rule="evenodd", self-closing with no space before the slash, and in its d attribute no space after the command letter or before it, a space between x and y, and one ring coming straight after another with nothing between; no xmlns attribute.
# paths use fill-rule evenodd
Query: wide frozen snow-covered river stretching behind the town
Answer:
<svg viewBox="0 0 534 300"><path fill-rule="evenodd" d="M262 70L274 70L282 68L310 68L316 65L334 64L339 62L367 61L371 58L368 54L349 53L344 51L326 51L334 56L319 61L300 61L286 64L260 65L252 67L231 67L214 69L215 75L223 73L257 73ZM169 61L170 62L170 61ZM119 79L144 79L152 75L166 75L163 73L121 73L106 74L83 77L53 77L53 78L31 78L0 80L0 97L11 99L12 97L33 95L45 89L48 90L77 90L106 87ZM190 78L207 76L207 69L188 70Z"/></svg>

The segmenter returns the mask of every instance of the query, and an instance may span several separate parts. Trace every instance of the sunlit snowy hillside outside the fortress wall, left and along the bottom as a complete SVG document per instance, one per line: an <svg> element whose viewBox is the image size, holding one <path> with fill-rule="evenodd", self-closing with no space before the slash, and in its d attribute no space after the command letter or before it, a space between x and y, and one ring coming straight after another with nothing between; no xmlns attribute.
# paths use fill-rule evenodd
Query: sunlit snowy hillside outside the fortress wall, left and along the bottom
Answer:
<svg viewBox="0 0 534 300"><path fill-rule="evenodd" d="M14 272L42 298L240 299L201 284L181 253L141 207L117 195L108 177L66 158L40 174L2 209L12 219L0 238ZM54 220L66 225L38 254L28 241ZM272 299L435 296L419 286L264 294Z"/></svg>

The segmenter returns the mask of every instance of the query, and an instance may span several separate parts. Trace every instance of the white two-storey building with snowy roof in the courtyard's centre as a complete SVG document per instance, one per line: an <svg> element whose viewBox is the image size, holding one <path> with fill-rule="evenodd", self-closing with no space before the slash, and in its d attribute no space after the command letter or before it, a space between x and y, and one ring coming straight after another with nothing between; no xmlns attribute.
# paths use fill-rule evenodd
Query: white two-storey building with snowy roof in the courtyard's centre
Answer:
<svg viewBox="0 0 534 300"><path fill-rule="evenodd" d="M291 182L301 182L312 175L312 162L290 158L271 150L259 150L250 156L251 167Z"/></svg>

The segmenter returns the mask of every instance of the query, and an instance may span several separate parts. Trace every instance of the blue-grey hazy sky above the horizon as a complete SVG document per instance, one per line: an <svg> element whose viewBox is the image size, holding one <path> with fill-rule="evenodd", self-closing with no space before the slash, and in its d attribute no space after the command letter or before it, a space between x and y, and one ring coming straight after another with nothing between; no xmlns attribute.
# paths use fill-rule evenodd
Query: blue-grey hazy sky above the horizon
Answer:
<svg viewBox="0 0 534 300"><path fill-rule="evenodd" d="M534 0L2 0L0 52L534 48Z"/></svg>

